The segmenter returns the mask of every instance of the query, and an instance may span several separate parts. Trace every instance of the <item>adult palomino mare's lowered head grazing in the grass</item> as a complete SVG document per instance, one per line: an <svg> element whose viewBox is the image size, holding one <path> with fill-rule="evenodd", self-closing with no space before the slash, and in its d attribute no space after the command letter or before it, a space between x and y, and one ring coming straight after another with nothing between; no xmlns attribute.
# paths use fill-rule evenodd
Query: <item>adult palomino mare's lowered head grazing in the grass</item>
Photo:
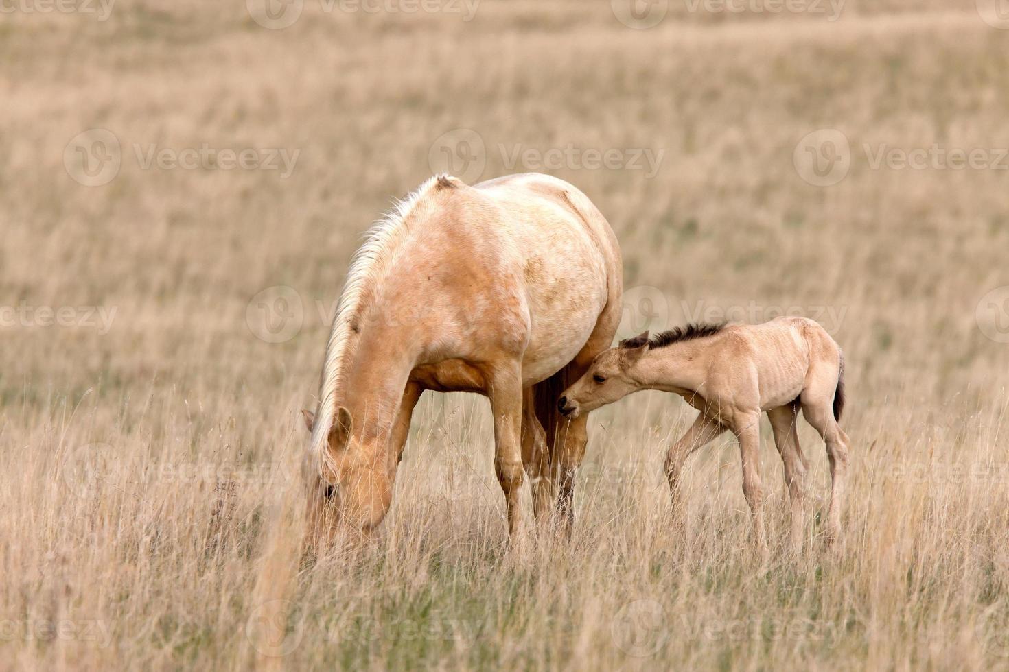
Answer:
<svg viewBox="0 0 1009 672"><path fill-rule="evenodd" d="M303 410L314 434L316 415ZM320 428L322 429L322 428ZM354 432L350 412L338 406L326 429L322 454L315 446L305 460L310 532L325 538L337 526L369 532L385 517L393 501L393 482L384 451L377 441Z"/></svg>

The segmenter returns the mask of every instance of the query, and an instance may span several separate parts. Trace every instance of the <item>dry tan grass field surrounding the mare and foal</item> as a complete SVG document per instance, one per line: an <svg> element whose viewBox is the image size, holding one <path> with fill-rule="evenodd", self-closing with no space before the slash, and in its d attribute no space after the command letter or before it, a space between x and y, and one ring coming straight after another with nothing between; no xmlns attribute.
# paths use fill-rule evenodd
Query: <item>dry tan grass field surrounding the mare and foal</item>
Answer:
<svg viewBox="0 0 1009 672"><path fill-rule="evenodd" d="M997 3L629 6L0 4L0 669L1009 669ZM788 553L766 420L769 563L731 437L671 517L694 412L643 393L591 418L570 541L511 548L486 401L427 393L377 538L302 558L350 255L441 169L584 190L626 332L818 319L846 543Z"/></svg>

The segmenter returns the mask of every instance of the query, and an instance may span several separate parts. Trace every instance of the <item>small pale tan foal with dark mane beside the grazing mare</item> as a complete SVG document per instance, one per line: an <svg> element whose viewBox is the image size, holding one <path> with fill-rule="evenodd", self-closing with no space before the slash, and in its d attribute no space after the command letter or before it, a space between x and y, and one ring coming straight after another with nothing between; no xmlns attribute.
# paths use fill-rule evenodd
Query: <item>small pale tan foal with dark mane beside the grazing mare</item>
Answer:
<svg viewBox="0 0 1009 672"><path fill-rule="evenodd" d="M588 371L564 391L561 413L577 417L639 390L681 395L700 411L666 453L674 504L686 457L726 429L740 442L743 493L753 512L762 548L764 499L760 478L760 414L767 412L785 463L792 505L791 541L802 548L808 464L795 431L801 406L806 421L826 442L830 462L828 538L840 536L840 506L848 469L848 435L837 425L845 405L840 348L811 319L778 317L763 324L677 327L653 338L648 331L599 354Z"/></svg>

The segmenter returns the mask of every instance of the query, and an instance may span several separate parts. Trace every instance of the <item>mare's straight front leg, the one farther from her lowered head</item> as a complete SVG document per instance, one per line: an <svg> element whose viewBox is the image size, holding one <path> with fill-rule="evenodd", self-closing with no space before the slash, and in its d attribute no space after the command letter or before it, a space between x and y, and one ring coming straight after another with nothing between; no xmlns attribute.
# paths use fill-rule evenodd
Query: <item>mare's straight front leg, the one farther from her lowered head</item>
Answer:
<svg viewBox="0 0 1009 672"><path fill-rule="evenodd" d="M522 511L522 375L518 362L500 367L488 376L487 394L494 415L494 473L504 491L508 527L513 538L519 532Z"/></svg>

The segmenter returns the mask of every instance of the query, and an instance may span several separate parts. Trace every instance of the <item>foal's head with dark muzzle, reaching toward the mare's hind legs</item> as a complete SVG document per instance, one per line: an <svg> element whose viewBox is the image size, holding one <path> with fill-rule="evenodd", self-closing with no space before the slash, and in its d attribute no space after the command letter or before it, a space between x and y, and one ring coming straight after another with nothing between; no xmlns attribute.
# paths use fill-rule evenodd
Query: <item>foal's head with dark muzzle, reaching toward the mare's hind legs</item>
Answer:
<svg viewBox="0 0 1009 672"><path fill-rule="evenodd" d="M648 352L648 331L622 341L616 348L599 353L581 378L564 390L557 408L562 415L578 417L599 406L611 404L639 389L634 367Z"/></svg>

